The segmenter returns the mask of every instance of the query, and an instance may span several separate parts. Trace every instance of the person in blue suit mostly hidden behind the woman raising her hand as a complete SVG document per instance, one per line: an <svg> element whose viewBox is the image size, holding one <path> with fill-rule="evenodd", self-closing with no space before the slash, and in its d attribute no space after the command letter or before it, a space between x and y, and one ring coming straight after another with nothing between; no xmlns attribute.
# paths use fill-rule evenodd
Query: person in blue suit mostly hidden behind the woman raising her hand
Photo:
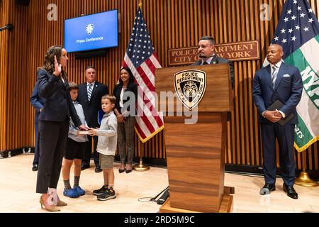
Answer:
<svg viewBox="0 0 319 227"><path fill-rule="evenodd" d="M33 166L32 170L37 171L39 165L39 156L40 156L40 148L39 148L39 130L38 130L38 118L43 109L43 105L45 103L45 99L39 95L38 92L39 84L35 83L32 95L30 96L30 103L35 108L35 118L34 118L34 127L35 127L35 148L34 148L34 158L33 158Z"/></svg>

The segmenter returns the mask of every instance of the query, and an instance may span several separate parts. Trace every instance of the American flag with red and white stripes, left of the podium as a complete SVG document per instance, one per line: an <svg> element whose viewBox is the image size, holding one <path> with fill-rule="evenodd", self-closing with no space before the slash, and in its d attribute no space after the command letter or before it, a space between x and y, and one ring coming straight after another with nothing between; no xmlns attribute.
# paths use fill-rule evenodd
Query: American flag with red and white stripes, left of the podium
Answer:
<svg viewBox="0 0 319 227"><path fill-rule="evenodd" d="M140 6L122 65L130 68L138 84L138 116L136 116L135 131L145 143L164 128L164 121L155 109L154 95L155 69L161 65L147 32Z"/></svg>

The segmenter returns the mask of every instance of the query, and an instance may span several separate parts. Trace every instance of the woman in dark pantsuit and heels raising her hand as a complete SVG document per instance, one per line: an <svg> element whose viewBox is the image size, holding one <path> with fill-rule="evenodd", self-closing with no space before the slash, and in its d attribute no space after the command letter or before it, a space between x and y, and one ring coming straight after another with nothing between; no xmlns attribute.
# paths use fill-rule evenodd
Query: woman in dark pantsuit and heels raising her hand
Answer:
<svg viewBox="0 0 319 227"><path fill-rule="evenodd" d="M57 196L62 158L67 145L69 117L80 129L86 129L79 121L69 92L67 74L67 50L59 45L52 46L45 54L43 67L38 74L38 92L45 98L39 116L40 160L36 192L41 193L40 204L47 211L60 211L57 206L66 206Z"/></svg>

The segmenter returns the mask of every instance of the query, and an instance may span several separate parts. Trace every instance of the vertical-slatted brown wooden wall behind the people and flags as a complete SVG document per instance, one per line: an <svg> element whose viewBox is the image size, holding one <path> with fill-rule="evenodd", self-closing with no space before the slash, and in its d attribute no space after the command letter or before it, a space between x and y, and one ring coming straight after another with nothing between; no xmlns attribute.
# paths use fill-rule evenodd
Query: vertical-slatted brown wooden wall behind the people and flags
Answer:
<svg viewBox="0 0 319 227"><path fill-rule="evenodd" d="M318 15L319 0L309 0ZM47 6L56 4L57 21L47 20ZM269 6L270 21L262 21L263 4ZM142 11L162 67L168 66L168 49L197 45L203 35L212 35L217 43L259 40L261 60L235 62L235 109L228 124L226 163L262 165L262 147L257 110L252 100L254 72L262 66L267 45L284 0L143 0ZM10 10L9 10L10 9ZM138 9L138 0L33 0L30 6L16 6L3 0L0 25L14 23L12 33L0 33L0 150L34 146L34 109L29 97L35 83L35 71L51 45L63 44L63 22L82 14L118 9L121 17L118 48L107 50L106 57L76 60L69 53L69 80L84 82L84 70L94 65L99 81L113 90L128 45ZM265 9L264 9L265 10ZM75 32L75 31L74 31ZM145 144L135 136L135 155L165 158L163 132ZM307 151L307 168L318 170L318 145ZM279 160L278 160L279 162ZM279 163L278 163L279 164ZM301 168L301 155L296 154Z"/></svg>

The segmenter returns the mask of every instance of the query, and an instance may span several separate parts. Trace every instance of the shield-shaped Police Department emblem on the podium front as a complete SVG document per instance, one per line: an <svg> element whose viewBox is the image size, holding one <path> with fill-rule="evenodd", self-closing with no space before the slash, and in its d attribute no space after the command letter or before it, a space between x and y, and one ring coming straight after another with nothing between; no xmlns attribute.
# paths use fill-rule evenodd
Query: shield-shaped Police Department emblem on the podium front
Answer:
<svg viewBox="0 0 319 227"><path fill-rule="evenodd" d="M201 70L184 70L174 74L177 97L189 111L194 109L203 98L206 82L206 72Z"/></svg>

